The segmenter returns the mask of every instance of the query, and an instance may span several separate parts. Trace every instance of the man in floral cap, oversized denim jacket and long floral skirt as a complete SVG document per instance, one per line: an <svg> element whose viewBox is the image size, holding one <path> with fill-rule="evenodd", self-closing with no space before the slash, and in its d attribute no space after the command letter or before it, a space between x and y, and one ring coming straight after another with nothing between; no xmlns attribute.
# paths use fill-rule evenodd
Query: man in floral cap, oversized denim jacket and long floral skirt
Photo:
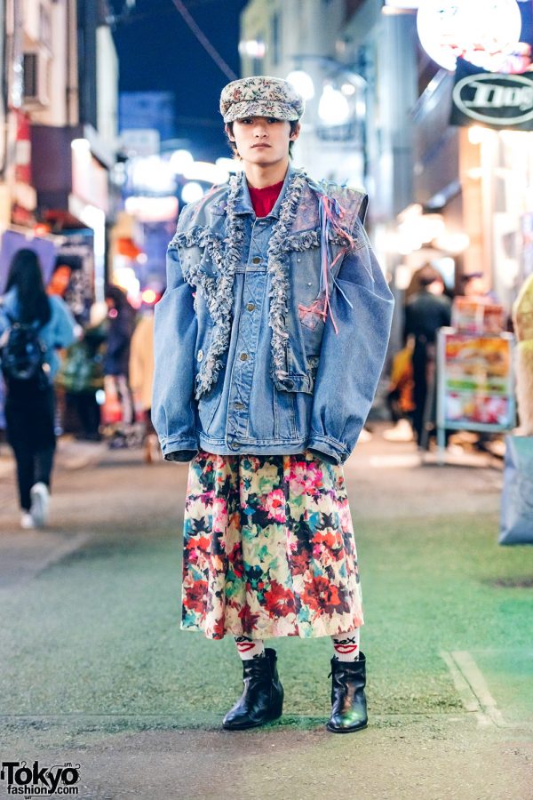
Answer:
<svg viewBox="0 0 533 800"><path fill-rule="evenodd" d="M362 600L342 464L370 411L393 310L362 227L367 198L290 165L303 100L228 84L243 172L181 213L155 308L153 415L190 461L182 628L235 636L229 730L282 714L274 636L331 636L328 728L367 724Z"/></svg>

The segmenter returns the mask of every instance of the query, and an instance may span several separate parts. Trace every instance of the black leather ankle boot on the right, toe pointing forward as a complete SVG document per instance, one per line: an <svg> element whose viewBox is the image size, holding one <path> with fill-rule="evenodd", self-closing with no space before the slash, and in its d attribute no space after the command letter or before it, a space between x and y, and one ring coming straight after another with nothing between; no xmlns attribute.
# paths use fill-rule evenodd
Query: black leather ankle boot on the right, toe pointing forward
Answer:
<svg viewBox="0 0 533 800"><path fill-rule="evenodd" d="M331 716L327 724L333 733L361 731L368 724L366 697L366 659L358 661L331 659Z"/></svg>

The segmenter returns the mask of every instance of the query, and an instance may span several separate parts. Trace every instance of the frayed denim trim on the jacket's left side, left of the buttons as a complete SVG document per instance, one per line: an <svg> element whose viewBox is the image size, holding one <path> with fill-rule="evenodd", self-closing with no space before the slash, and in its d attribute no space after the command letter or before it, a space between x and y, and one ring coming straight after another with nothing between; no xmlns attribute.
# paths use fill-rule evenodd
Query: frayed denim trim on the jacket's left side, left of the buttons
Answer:
<svg viewBox="0 0 533 800"><path fill-rule="evenodd" d="M230 180L227 196L227 231L224 243L215 236L207 238L205 243L219 276L215 280L203 274L199 265L195 268L196 285L201 286L213 320L211 343L196 375L196 400L209 392L216 383L222 367L222 356L229 346L233 322L235 270L241 262L244 246L243 220L235 214L238 190L239 178L235 176Z"/></svg>

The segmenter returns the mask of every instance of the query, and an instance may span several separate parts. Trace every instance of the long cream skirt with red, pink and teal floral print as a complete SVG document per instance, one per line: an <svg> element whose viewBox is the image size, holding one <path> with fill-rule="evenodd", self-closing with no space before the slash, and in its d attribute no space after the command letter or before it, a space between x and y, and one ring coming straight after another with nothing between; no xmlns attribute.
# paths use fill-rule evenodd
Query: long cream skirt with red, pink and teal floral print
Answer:
<svg viewBox="0 0 533 800"><path fill-rule="evenodd" d="M310 452L199 452L188 474L181 628L332 636L362 625L343 470Z"/></svg>

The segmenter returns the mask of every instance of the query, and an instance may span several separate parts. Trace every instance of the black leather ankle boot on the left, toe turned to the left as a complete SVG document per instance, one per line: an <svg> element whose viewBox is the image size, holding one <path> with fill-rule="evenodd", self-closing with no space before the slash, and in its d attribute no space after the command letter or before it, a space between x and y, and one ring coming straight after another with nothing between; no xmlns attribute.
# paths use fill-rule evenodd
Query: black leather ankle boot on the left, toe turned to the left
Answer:
<svg viewBox="0 0 533 800"><path fill-rule="evenodd" d="M243 661L243 696L227 712L223 728L243 731L282 716L283 687L275 662L275 650L271 647L267 647L264 656Z"/></svg>

